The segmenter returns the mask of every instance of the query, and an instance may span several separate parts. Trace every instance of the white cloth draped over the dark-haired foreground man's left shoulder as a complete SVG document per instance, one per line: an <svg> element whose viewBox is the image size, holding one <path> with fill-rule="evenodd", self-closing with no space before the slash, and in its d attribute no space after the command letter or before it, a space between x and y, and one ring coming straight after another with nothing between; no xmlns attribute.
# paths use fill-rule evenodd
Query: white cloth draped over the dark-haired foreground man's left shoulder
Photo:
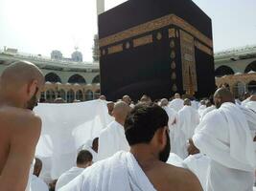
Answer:
<svg viewBox="0 0 256 191"><path fill-rule="evenodd" d="M129 152L98 161L60 191L156 191Z"/></svg>

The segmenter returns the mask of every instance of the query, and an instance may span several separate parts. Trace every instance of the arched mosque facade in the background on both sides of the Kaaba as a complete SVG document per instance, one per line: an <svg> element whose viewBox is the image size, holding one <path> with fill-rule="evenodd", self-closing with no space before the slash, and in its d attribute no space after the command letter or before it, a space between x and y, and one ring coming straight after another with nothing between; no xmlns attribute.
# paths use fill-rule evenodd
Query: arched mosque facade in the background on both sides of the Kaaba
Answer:
<svg viewBox="0 0 256 191"><path fill-rule="evenodd" d="M51 57L19 53L15 49L0 52L0 74L17 60L28 60L45 75L45 87L41 97L53 102L61 97L66 102L98 98L100 90L99 51L95 37L93 62L83 62L82 53L76 50L71 58L63 57L55 50ZM215 53L216 86L225 85L235 96L244 92L256 93L256 45Z"/></svg>

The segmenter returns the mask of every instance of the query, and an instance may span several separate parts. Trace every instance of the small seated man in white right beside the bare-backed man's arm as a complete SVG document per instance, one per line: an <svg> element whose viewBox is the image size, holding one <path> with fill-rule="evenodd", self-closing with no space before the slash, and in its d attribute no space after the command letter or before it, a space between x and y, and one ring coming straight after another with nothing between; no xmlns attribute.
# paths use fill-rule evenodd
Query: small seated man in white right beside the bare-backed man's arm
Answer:
<svg viewBox="0 0 256 191"><path fill-rule="evenodd" d="M48 191L49 188L47 184L39 178L42 170L42 161L35 158L34 173L31 180L31 190L32 191Z"/></svg>

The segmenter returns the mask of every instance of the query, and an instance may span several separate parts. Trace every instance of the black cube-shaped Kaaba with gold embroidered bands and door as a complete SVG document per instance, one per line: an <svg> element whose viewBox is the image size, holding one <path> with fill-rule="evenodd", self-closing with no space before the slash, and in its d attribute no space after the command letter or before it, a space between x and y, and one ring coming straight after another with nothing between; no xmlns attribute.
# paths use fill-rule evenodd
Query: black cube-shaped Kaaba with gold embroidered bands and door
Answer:
<svg viewBox="0 0 256 191"><path fill-rule="evenodd" d="M101 92L153 99L215 90L211 19L191 0L129 0L99 15Z"/></svg>

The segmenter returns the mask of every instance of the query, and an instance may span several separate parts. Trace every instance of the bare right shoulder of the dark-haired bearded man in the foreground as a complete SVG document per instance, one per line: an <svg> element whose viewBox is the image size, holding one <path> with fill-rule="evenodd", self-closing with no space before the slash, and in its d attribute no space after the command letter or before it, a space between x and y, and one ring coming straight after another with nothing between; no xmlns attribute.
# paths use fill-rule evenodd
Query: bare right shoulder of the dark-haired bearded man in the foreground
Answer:
<svg viewBox="0 0 256 191"><path fill-rule="evenodd" d="M175 188L176 191L202 190L198 178L188 169L176 167L164 162L159 162L156 169L165 180L169 181L169 186Z"/></svg>

